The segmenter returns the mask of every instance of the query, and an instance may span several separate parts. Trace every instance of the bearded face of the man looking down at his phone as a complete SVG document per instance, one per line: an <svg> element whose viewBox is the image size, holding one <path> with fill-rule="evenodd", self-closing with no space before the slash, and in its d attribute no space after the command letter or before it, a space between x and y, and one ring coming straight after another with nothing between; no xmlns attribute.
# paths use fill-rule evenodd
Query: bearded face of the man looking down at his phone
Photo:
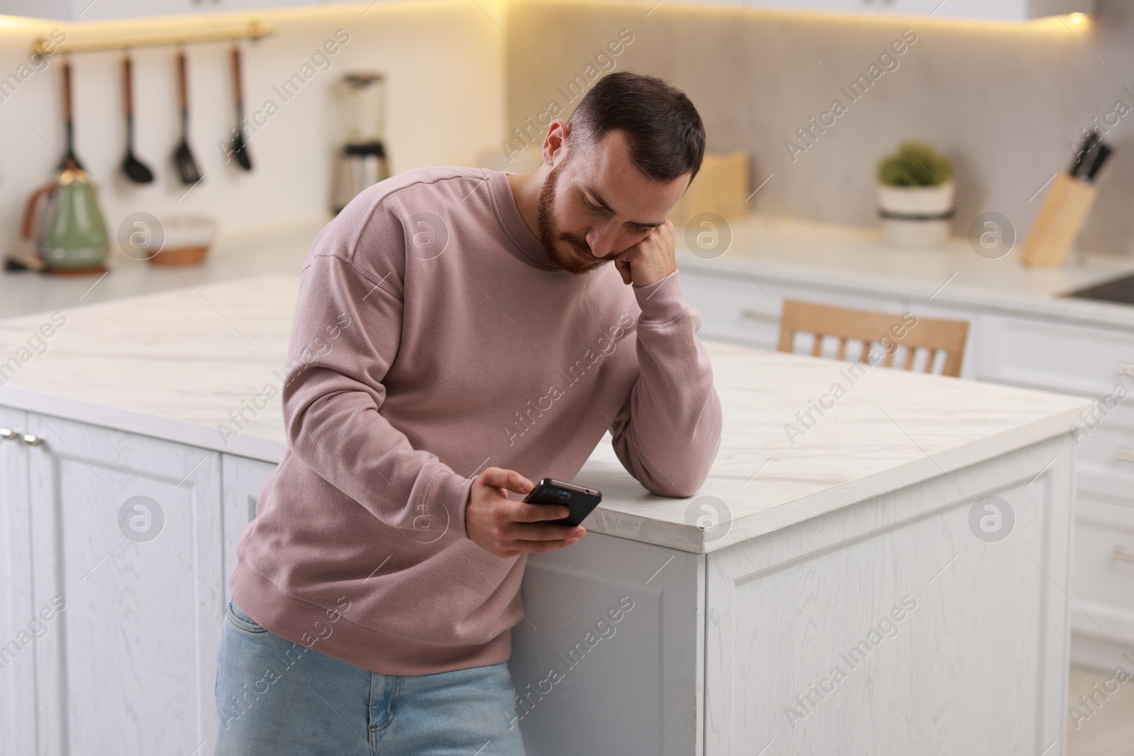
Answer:
<svg viewBox="0 0 1134 756"><path fill-rule="evenodd" d="M619 131L587 146L565 142L540 192L540 241L565 271L601 267L660 226L688 182L688 173L649 178Z"/></svg>

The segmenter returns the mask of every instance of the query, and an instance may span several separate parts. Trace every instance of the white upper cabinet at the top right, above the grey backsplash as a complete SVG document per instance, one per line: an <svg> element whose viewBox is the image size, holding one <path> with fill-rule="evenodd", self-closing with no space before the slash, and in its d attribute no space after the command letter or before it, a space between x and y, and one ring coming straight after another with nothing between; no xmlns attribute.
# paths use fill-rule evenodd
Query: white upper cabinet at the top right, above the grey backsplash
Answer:
<svg viewBox="0 0 1134 756"><path fill-rule="evenodd" d="M756 5L754 0L742 0L742 3ZM934 18L984 20L1027 20L1094 10L1094 0L772 0L763 5L772 9L932 15Z"/></svg>

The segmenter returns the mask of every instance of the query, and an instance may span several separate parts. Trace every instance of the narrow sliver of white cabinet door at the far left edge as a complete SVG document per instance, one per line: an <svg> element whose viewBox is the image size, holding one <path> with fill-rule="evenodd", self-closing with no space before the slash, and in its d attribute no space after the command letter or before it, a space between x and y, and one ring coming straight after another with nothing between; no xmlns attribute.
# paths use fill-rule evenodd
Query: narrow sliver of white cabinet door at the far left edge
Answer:
<svg viewBox="0 0 1134 756"><path fill-rule="evenodd" d="M0 407L0 753L35 753L35 659L25 413ZM6 432L7 431L7 432Z"/></svg>

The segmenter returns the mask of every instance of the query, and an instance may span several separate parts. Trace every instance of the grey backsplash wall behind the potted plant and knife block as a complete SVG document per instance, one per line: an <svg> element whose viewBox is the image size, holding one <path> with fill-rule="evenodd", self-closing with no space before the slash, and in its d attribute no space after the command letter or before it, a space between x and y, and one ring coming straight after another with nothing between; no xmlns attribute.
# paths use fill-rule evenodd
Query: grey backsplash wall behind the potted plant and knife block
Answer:
<svg viewBox="0 0 1134 756"><path fill-rule="evenodd" d="M998 212L1023 235L1040 189L1066 170L1081 129L1098 118L1115 158L1083 246L1134 250L1131 0L1099 0L1095 18L1080 26L651 5L510 3L513 142L526 118L562 102L567 82L599 67L595 51L629 34L633 43L608 56L604 70L657 74L684 88L705 119L710 150L753 155L752 187L768 180L751 201L758 212L875 223L875 161L897 139L921 138L955 160L954 233ZM832 112L835 101L841 108Z"/></svg>

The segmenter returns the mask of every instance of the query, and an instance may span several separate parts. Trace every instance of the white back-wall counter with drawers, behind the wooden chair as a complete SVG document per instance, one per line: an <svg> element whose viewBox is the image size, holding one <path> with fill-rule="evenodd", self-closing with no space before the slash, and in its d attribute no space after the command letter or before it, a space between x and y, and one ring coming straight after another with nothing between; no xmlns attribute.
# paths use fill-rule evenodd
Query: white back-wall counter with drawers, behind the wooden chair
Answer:
<svg viewBox="0 0 1134 756"><path fill-rule="evenodd" d="M902 249L878 229L790 219L746 219L728 231L727 250L678 252L705 340L775 349L785 299L965 321L963 379L1095 400L1075 422L1072 661L1109 671L1126 663L1134 648L1134 303L1069 295L1134 273L1134 257L1076 254L1060 267L1030 269L1010 233L989 239L1004 241L999 249L964 238Z"/></svg>

